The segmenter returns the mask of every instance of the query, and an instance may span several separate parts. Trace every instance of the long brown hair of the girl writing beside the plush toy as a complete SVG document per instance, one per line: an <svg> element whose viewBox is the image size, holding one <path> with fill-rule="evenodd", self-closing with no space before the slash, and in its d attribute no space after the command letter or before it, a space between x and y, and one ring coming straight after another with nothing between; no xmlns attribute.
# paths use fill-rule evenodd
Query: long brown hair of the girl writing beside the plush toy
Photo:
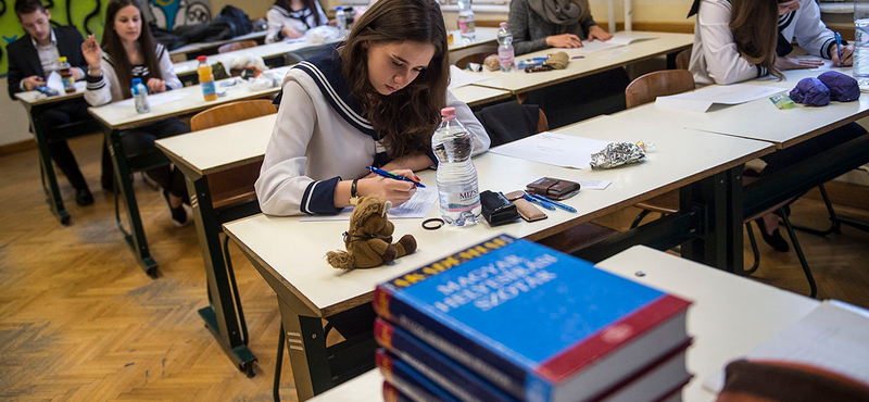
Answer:
<svg viewBox="0 0 869 402"><path fill-rule="evenodd" d="M412 40L434 46L428 67L413 83L382 96L368 80L366 43ZM431 149L431 135L446 102L450 60L446 29L434 0L380 0L353 26L341 49L341 70L390 158Z"/></svg>

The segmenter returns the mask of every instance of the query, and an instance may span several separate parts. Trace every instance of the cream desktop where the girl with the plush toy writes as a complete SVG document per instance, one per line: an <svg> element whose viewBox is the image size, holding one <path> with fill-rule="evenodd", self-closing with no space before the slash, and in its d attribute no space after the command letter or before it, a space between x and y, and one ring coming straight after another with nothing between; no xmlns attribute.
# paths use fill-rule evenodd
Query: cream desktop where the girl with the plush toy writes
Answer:
<svg viewBox="0 0 869 402"><path fill-rule="evenodd" d="M652 141L657 150L642 164L602 171L563 168L486 153L474 160L481 190L522 189L542 176L613 180L613 184L606 190L580 191L577 197L564 201L578 213L546 211L549 218L534 223L521 222L492 229L482 222L469 228L424 230L421 219L394 219L395 235L413 234L419 250L391 265L373 269L344 273L326 263L327 251L343 249L341 233L347 230L347 222L302 223L299 216L260 214L226 224L225 231L268 271L264 276L282 285L276 288L279 296L285 300L289 297L301 300L300 304L308 311L300 311L300 314L329 316L368 302L379 282L495 234L507 233L531 240L543 238L772 152L772 146L765 142L669 127L655 129L616 117L593 120L562 131L605 140ZM433 171L420 172L419 176L423 183L433 186ZM428 217L439 214L436 205ZM281 293L284 291L292 294Z"/></svg>

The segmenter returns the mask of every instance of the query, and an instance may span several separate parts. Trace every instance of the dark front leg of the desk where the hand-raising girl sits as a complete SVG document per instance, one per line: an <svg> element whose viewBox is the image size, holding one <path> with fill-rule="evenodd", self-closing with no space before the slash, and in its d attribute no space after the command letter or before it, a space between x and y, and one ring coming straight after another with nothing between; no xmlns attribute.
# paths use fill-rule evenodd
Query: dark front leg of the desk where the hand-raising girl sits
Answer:
<svg viewBox="0 0 869 402"><path fill-rule="evenodd" d="M124 225L118 216L117 227L124 234L124 240L127 241L136 259L142 264L144 272L151 276L156 277L156 261L151 257L151 251L148 249L148 240L144 238L144 228L142 227L142 219L139 216L139 205L136 203L136 192L133 190L133 183L130 180L130 169L127 164L127 159L124 154L124 147L121 145L121 133L105 128L105 141L109 143L109 152L112 154L114 162L115 180L121 190L121 197L124 199L124 206L127 209L127 218L129 219L130 233L124 229Z"/></svg>

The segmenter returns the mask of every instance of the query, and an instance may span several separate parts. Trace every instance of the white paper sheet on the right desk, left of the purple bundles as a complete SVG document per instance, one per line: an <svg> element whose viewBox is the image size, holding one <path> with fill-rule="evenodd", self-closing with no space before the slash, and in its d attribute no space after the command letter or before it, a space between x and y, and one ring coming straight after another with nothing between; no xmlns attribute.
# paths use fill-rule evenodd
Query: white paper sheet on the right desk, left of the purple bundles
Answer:
<svg viewBox="0 0 869 402"><path fill-rule="evenodd" d="M655 100L655 105L692 112L706 112L713 103L740 104L771 97L783 91L786 91L786 89L752 84L710 85L691 92L658 97Z"/></svg>

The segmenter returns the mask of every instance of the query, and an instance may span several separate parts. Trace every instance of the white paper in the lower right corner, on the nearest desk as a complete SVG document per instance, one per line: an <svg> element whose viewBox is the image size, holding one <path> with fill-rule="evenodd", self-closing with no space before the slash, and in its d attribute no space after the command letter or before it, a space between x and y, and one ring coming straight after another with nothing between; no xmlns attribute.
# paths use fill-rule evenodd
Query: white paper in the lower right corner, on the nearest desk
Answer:
<svg viewBox="0 0 869 402"><path fill-rule="evenodd" d="M808 315L748 352L746 357L797 362L844 374L869 385L869 317L855 306L824 301ZM718 392L723 368L703 381Z"/></svg>

